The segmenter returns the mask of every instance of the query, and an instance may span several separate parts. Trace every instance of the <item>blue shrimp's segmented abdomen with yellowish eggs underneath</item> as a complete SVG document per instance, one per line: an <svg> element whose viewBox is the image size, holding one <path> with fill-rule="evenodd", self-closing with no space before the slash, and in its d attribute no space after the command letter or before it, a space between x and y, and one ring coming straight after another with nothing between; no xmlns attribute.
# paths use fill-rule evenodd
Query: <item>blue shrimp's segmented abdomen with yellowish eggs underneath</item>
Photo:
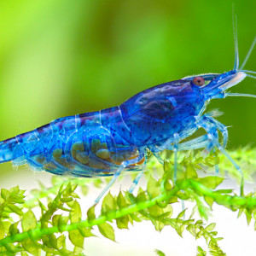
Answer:
<svg viewBox="0 0 256 256"><path fill-rule="evenodd" d="M13 139L5 161L58 175L113 175L124 161L143 156L119 107L55 119ZM138 164L143 162L143 157L138 159Z"/></svg>

